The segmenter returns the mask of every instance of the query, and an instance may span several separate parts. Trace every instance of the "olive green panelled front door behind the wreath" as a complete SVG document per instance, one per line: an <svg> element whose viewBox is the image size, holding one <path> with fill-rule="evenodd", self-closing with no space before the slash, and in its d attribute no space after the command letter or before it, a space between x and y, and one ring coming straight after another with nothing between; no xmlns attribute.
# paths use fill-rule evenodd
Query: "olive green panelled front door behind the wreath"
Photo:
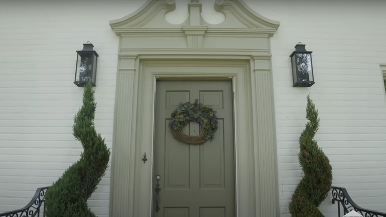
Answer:
<svg viewBox="0 0 386 217"><path fill-rule="evenodd" d="M179 103L195 99L217 111L218 129L211 141L186 145L174 139L168 122ZM199 131L193 122L183 129ZM236 216L231 81L157 81L153 177L153 217Z"/></svg>

